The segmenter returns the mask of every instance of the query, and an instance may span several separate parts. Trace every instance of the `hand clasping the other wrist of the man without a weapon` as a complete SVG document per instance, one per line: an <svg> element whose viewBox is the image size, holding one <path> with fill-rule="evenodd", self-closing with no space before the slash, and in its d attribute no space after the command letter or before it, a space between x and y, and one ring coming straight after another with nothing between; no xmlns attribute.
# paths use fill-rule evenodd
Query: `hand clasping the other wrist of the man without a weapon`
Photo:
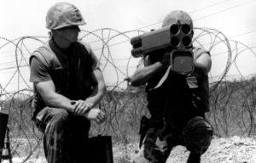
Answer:
<svg viewBox="0 0 256 163"><path fill-rule="evenodd" d="M73 114L74 115L84 115L84 113L90 110L93 106L91 103L87 103L84 100L75 101Z"/></svg>

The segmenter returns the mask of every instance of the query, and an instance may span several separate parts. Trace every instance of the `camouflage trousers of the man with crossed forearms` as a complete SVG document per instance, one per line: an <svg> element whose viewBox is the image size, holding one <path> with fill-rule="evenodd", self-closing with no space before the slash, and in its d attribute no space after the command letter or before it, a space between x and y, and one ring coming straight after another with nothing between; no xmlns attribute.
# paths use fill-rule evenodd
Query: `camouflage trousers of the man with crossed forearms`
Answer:
<svg viewBox="0 0 256 163"><path fill-rule="evenodd" d="M45 107L36 117L44 132L44 154L49 163L85 163L88 160L90 121L67 110Z"/></svg>

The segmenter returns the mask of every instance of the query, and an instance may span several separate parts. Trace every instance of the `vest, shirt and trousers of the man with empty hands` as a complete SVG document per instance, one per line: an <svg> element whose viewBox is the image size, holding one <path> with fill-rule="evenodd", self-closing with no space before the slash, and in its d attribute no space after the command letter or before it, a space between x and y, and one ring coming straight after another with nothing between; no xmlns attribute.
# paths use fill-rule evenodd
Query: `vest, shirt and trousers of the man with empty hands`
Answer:
<svg viewBox="0 0 256 163"><path fill-rule="evenodd" d="M56 93L79 100L88 98L92 90L90 73L101 63L85 42L73 43L62 52L53 38L38 48L31 57L31 82L52 80ZM34 87L35 109L32 119L44 132L44 151L49 162L85 162L88 160L90 121L67 110L46 106Z"/></svg>

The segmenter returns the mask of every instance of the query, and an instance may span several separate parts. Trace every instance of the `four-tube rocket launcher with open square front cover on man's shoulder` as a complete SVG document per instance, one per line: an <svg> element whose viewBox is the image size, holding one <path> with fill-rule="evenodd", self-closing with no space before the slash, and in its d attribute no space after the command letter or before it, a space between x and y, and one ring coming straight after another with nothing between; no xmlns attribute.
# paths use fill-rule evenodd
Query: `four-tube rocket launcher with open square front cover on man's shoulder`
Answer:
<svg viewBox="0 0 256 163"><path fill-rule="evenodd" d="M177 74L188 74L194 70L192 52L193 29L187 24L167 25L159 30L132 37L133 57L157 55L163 50L170 53L171 70Z"/></svg>

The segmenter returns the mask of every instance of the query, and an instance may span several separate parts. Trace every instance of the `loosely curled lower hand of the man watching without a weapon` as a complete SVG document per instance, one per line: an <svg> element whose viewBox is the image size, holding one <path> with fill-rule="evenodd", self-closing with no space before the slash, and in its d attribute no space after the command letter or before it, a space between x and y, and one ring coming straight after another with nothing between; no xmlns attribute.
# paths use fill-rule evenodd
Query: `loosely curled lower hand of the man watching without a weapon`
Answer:
<svg viewBox="0 0 256 163"><path fill-rule="evenodd" d="M106 119L106 115L99 109L91 109L84 116L90 121L96 121L97 124L101 124Z"/></svg>

